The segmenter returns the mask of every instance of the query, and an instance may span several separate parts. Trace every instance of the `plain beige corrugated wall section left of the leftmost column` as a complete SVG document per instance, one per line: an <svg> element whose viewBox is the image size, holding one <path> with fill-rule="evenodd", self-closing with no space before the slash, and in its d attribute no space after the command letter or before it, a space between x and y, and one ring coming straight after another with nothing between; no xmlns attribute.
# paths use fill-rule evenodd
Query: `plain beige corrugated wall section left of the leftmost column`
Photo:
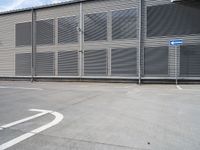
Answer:
<svg viewBox="0 0 200 150"><path fill-rule="evenodd" d="M15 76L15 53L30 53L30 46L16 48L15 25L30 22L31 13L13 13L0 16L0 77Z"/></svg>

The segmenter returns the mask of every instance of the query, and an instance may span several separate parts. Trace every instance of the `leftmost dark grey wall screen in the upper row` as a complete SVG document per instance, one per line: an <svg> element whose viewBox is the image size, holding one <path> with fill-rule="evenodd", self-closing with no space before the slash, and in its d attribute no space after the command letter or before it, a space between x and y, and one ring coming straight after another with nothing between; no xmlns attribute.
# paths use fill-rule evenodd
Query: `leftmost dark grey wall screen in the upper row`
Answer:
<svg viewBox="0 0 200 150"><path fill-rule="evenodd" d="M31 45L31 22L18 23L15 25L15 45Z"/></svg>

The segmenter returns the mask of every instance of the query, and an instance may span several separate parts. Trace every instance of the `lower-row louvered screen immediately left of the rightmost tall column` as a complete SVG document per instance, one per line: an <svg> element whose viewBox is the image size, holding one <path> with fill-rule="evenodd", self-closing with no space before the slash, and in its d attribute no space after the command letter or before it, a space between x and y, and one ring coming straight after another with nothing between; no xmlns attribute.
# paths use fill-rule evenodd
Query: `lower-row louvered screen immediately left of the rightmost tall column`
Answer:
<svg viewBox="0 0 200 150"><path fill-rule="evenodd" d="M112 49L111 74L118 76L136 76L137 74L137 49Z"/></svg>

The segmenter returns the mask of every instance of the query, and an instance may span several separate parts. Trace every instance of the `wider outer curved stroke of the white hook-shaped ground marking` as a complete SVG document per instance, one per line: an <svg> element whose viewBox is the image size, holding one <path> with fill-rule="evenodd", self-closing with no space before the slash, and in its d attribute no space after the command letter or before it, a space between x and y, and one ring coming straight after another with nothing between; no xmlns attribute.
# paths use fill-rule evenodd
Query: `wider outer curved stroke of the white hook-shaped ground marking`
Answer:
<svg viewBox="0 0 200 150"><path fill-rule="evenodd" d="M36 110L36 109L34 109L34 110ZM37 109L37 110L41 111L41 112L47 111L48 113L54 115L55 119L53 121L51 121L50 123L46 124L46 125L43 125L43 126L37 128L37 129L34 129L34 130L32 130L32 131L30 131L28 133L25 133L25 134L23 134L23 135L21 135L21 136L19 136L17 138L14 138L14 139L12 139L12 140L0 145L0 150L5 150L5 149L7 149L7 148L19 143L19 142L22 142L22 141L24 141L24 140L26 140L26 139L28 139L28 138L30 138L30 137L42 132L42 131L50 128L50 127L53 127L56 124L58 124L60 121L62 121L63 118L64 118L64 116L62 114L58 113L58 112L52 112L52 111L40 110L40 109Z"/></svg>

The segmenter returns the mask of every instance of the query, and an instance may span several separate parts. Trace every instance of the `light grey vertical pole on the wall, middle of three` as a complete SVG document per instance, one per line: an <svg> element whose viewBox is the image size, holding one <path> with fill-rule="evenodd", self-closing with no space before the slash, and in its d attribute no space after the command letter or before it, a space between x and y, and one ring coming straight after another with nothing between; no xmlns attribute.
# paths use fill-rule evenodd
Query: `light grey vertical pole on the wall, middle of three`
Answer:
<svg viewBox="0 0 200 150"><path fill-rule="evenodd" d="M80 3L80 23L79 23L79 76L80 78L83 76L83 34L84 34L84 29L83 29L83 4Z"/></svg>

